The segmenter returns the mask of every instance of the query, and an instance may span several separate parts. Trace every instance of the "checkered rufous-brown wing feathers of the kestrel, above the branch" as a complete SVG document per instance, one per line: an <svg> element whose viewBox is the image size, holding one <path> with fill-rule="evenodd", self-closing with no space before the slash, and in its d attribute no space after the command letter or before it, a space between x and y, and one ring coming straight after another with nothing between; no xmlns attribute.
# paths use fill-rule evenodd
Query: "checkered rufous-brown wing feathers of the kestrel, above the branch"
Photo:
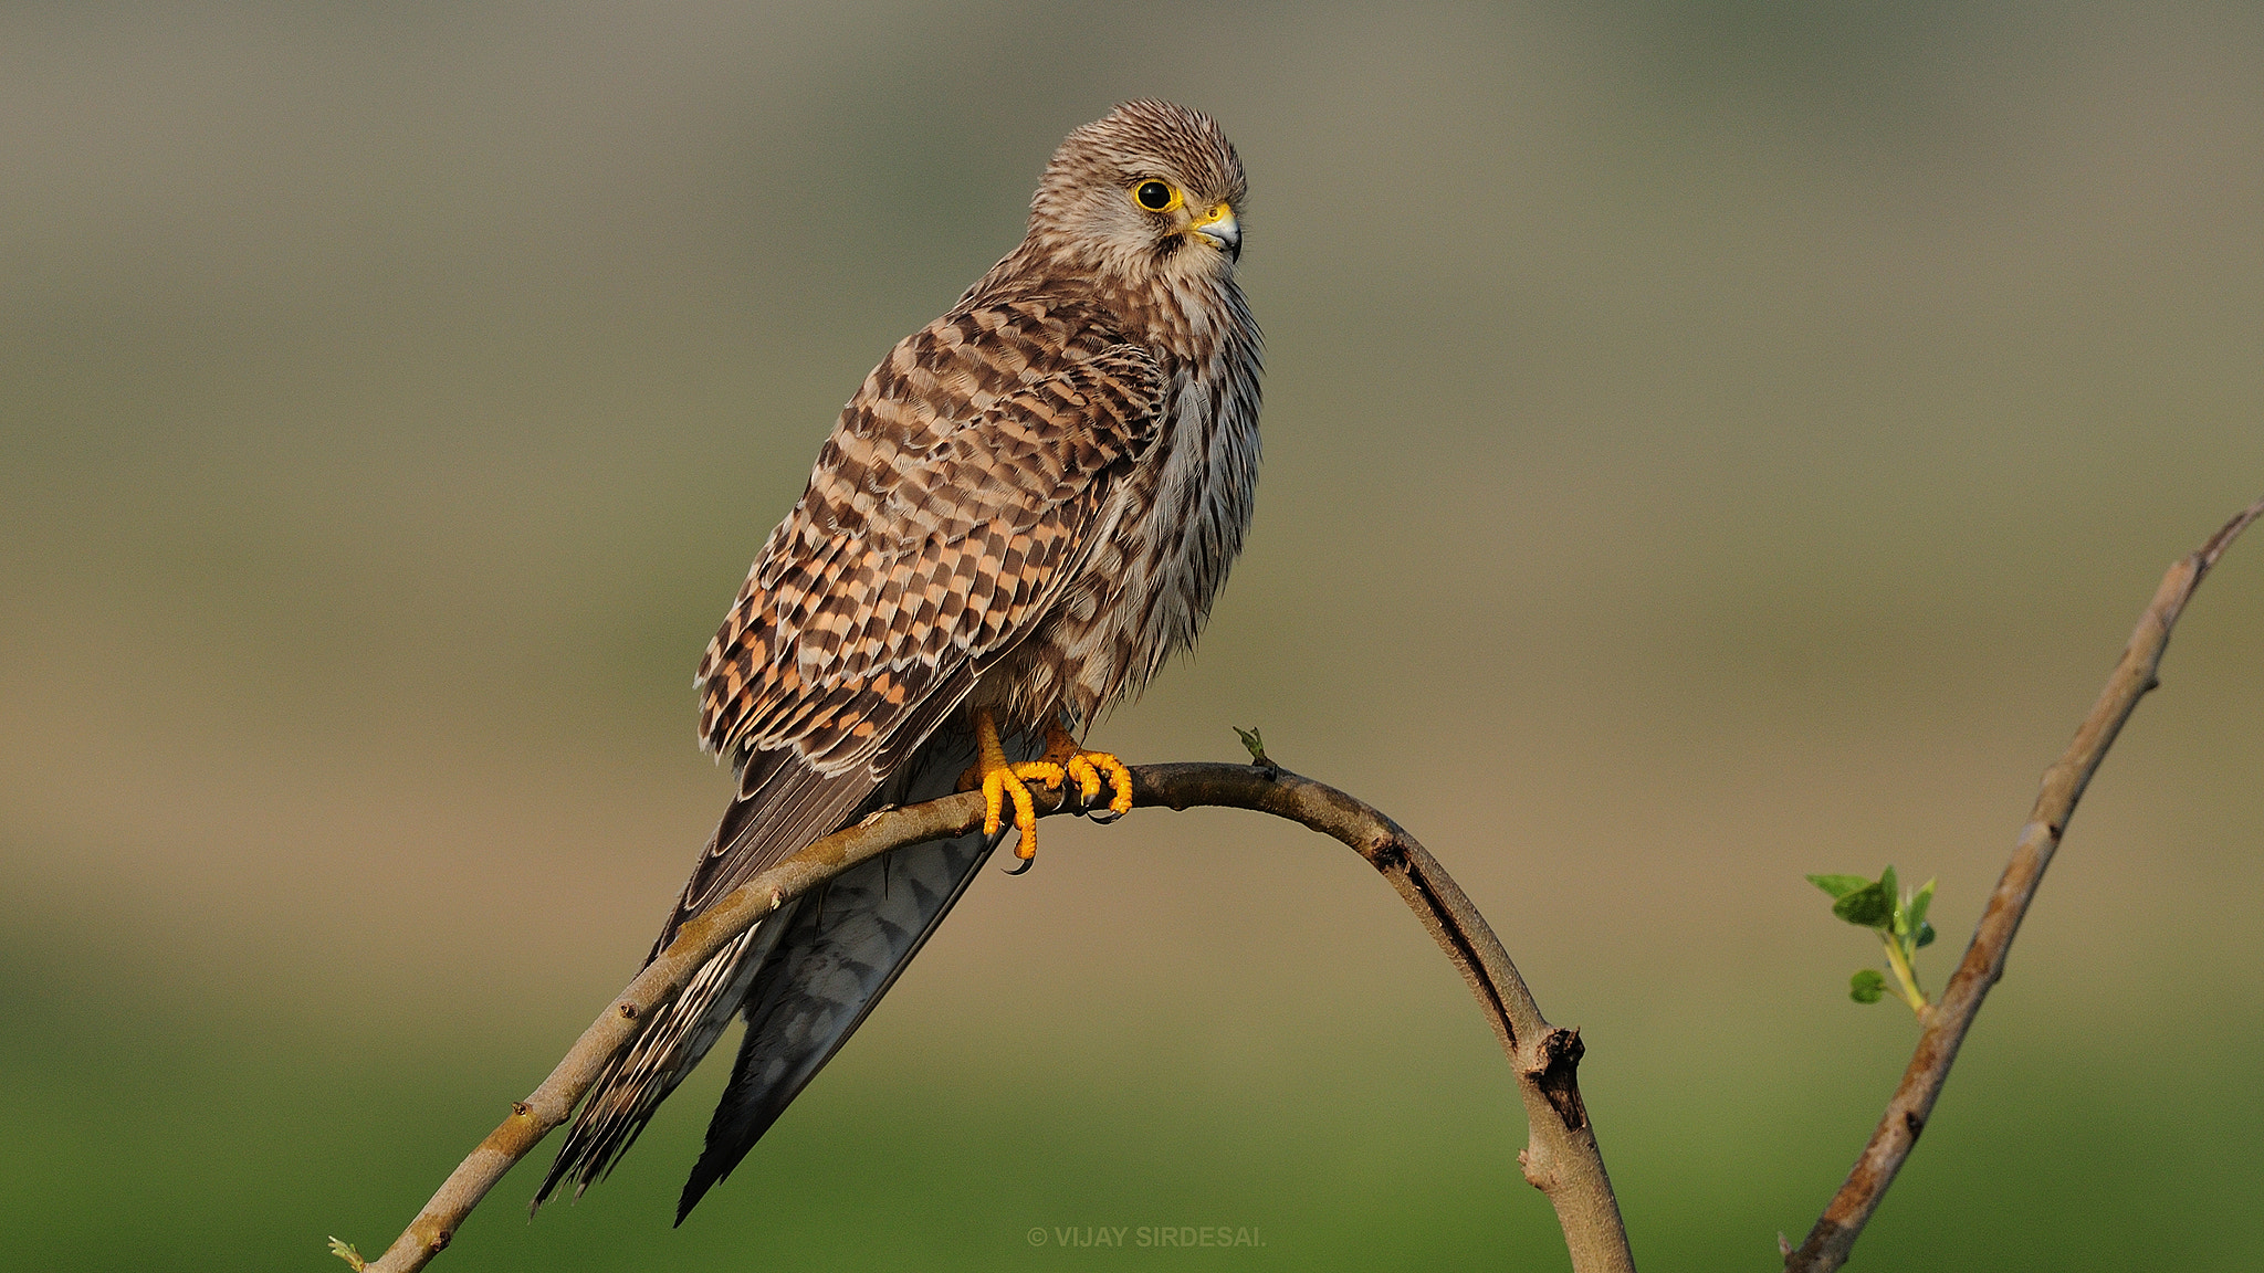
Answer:
<svg viewBox="0 0 2264 1273"><path fill-rule="evenodd" d="M709 747L765 775L772 766L754 761L774 752L815 770L765 802L840 815L878 786L885 772L874 759L919 745L919 736L894 741L903 720L955 673L1028 636L1100 510L1109 469L1127 467L1155 437L1161 369L1091 324L1078 328L1091 349L1075 356L1080 347L1064 340L1069 351L1050 374L1007 394L908 399L885 374L937 358L989 367L994 347L1028 344L1035 319L1001 326L989 317L946 315L906 342L910 360L892 356L874 371L702 659ZM1037 367L1028 351L1014 365ZM978 394L983 410L974 410ZM815 535L820 526L835 530ZM774 584L763 589L763 580ZM740 791L756 793L747 781ZM806 818L756 815L749 825L763 834L718 838L663 942L684 917L831 829L801 840L772 834L788 822L808 829Z"/></svg>

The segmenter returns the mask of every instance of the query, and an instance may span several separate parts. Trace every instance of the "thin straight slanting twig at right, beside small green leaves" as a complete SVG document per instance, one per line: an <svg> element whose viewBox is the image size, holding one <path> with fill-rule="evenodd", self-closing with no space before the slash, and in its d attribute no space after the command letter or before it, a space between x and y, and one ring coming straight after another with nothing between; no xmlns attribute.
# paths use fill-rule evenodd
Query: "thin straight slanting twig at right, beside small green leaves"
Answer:
<svg viewBox="0 0 2264 1273"><path fill-rule="evenodd" d="M2130 709L2137 707L2137 700L2146 691L2160 684L2155 670L2162 666L2169 630L2176 627L2178 614L2192 600L2194 589L2201 587L2201 578L2216 564L2216 557L2259 516L2264 516L2264 498L2241 510L2207 544L2180 557L2162 575L2162 587L2155 589L2146 614L2137 621L2137 630L2130 632L2130 643L2124 646L2121 661L2115 664L2106 689L2099 691L2099 702L2092 704L2090 716L2083 718L2076 738L2067 743L2060 759L2044 770L2042 791L2035 795L2029 822L2019 829L2013 861L2006 863L1997 890L1988 897L1988 908L1981 913L1981 924L1974 926L1974 940L1965 947L1965 958L1958 960L1958 969L1943 990L1943 997L1927 1013L1927 1024L1918 1035L1918 1051L1911 1053L1911 1065L1902 1071L1902 1083L1886 1103L1879 1128L1870 1133L1870 1144L1854 1160L1847 1182L1832 1196L1832 1205L1825 1207L1816 1228L1809 1230L1807 1241L1800 1244L1800 1250L1784 1257L1786 1273L1829 1273L1847 1262L1854 1239L1870 1223L1872 1212L1879 1210L1888 1185L1902 1171L1902 1160L1918 1144L1918 1133L1927 1128L1933 1101L1943 1094L1949 1067L1958 1058L1958 1044L1965 1042L1965 1031L1972 1028L1974 1015L1981 1013L1981 999L2004 976L2004 960L2013 951L2013 935L2019 933L2019 920L2029 913L2029 902L2035 899L2035 886L2042 883L2044 868L2051 865L2051 854L2058 852L2060 836L2067 834L2067 820L2074 815L2076 802L2083 800L2083 788L2092 781L2092 772L2099 770L2099 761L2106 759L2108 747L2115 745L2115 734L2130 718Z"/></svg>

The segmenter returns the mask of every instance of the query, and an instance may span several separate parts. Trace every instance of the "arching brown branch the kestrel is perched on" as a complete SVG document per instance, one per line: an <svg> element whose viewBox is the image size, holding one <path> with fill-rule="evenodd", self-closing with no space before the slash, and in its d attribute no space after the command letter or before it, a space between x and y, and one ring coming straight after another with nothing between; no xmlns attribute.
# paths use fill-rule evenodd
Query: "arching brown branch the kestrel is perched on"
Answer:
<svg viewBox="0 0 2264 1273"><path fill-rule="evenodd" d="M1254 809L1302 822L1361 854L1422 920L1478 997L1478 1008L1517 1071L1530 1137L1517 1155L1526 1180L1549 1196L1564 1228L1576 1273L1632 1273L1626 1225L1612 1180L1596 1151L1596 1133L1580 1101L1580 1033L1551 1026L1501 940L1469 904L1447 868L1397 822L1333 786L1275 768L1218 763L1137 766L1134 806ZM1050 809L1048 813L1060 813ZM464 1216L598 1080L607 1058L636 1035L636 1019L677 994L718 949L777 911L790 897L833 879L851 865L921 840L962 836L983 825L983 795L960 793L928 804L892 809L858 827L826 836L772 870L749 879L713 908L688 920L677 938L582 1031L550 1078L512 1105L487 1139L432 1194L423 1212L369 1264L333 1239L355 1268L410 1273L439 1255Z"/></svg>

